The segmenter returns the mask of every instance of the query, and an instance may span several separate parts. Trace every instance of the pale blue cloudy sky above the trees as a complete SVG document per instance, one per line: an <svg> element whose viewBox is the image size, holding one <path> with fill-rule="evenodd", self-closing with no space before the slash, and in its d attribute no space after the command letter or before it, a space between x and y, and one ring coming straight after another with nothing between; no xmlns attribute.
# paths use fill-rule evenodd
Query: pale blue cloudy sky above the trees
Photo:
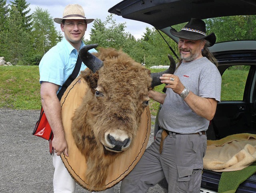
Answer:
<svg viewBox="0 0 256 193"><path fill-rule="evenodd" d="M14 0L11 0L14 2ZM26 0L31 9L30 14L40 7L43 10L48 10L52 18L62 18L63 10L68 4L80 4L84 8L85 17L92 19L100 19L105 21L106 17L110 15L108 9L114 5L121 2L121 0ZM7 0L7 3L10 4L10 1ZM114 15L117 23L126 22L125 32L130 32L136 39L141 38L144 32L146 32L146 27L153 28L150 24L143 22L138 22L135 20L128 20L122 18L122 16ZM55 22L54 22L55 23ZM85 39L90 39L90 31L93 23L88 24ZM60 24L55 23L56 30L61 31Z"/></svg>

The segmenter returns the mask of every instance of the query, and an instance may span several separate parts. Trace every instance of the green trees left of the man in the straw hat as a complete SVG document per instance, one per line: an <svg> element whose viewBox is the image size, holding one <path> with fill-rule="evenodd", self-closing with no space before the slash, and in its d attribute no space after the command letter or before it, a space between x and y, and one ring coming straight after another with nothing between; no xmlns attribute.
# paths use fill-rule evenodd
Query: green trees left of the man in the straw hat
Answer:
<svg viewBox="0 0 256 193"><path fill-rule="evenodd" d="M0 56L12 65L38 65L42 56L62 39L47 10L37 7L28 15L26 0L5 6L0 0ZM33 20L33 22L32 22Z"/></svg>

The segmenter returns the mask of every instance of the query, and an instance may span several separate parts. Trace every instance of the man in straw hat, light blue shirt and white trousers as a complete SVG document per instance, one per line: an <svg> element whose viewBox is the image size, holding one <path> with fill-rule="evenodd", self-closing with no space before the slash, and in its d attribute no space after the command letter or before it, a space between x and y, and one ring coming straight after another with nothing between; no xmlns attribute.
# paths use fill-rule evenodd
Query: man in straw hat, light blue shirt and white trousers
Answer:
<svg viewBox="0 0 256 193"><path fill-rule="evenodd" d="M51 48L42 58L39 64L41 101L48 122L52 128L54 138L52 140L53 165L55 168L53 186L55 193L73 193L76 182L64 166L60 154L64 151L68 156L68 145L65 139L62 119L61 105L56 93L72 74L78 52L85 46L82 42L87 24L94 19L86 19L82 6L69 4L64 8L62 18L54 18L60 24L64 38L56 46ZM97 52L95 49L90 52ZM86 68L82 63L80 71Z"/></svg>

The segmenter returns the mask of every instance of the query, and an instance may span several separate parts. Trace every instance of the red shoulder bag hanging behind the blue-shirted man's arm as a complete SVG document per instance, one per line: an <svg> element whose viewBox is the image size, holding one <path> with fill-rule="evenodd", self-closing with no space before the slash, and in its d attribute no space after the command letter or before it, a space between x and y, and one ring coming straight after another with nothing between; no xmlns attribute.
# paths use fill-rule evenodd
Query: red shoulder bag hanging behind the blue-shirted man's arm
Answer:
<svg viewBox="0 0 256 193"><path fill-rule="evenodd" d="M41 107L40 117L36 122L36 126L32 134L38 137L42 137L48 141L53 139L52 129L48 123L46 115L44 114L43 107Z"/></svg>

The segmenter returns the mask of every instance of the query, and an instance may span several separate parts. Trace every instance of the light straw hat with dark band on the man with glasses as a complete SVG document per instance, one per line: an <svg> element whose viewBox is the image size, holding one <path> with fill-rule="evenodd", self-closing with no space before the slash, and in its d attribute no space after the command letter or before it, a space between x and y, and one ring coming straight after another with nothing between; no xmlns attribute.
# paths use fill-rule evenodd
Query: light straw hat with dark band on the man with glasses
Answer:
<svg viewBox="0 0 256 193"><path fill-rule="evenodd" d="M94 21L94 19L86 19L82 6L78 4L67 5L64 9L62 18L54 18L53 20L58 24L62 24L62 20L86 20L87 24Z"/></svg>

